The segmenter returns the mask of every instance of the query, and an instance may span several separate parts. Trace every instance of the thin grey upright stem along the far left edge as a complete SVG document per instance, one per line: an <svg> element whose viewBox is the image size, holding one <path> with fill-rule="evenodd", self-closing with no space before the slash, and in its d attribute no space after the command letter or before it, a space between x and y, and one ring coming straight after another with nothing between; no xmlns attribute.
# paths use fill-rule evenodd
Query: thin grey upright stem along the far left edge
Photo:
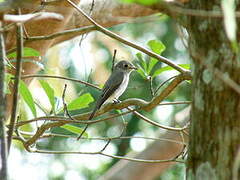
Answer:
<svg viewBox="0 0 240 180"><path fill-rule="evenodd" d="M0 28L2 23L0 21ZM3 180L7 180L7 142L6 142L6 96L5 96L5 46L3 33L0 32L0 153L1 153L1 168L0 177Z"/></svg>

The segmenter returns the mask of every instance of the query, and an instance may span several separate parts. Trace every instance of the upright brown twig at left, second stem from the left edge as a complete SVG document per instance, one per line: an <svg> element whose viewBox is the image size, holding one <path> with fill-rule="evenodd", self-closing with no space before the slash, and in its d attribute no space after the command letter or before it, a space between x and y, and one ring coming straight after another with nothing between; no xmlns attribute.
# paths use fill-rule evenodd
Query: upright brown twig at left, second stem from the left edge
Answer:
<svg viewBox="0 0 240 180"><path fill-rule="evenodd" d="M11 147L12 135L15 127L17 108L18 108L18 90L19 82L21 79L22 71L22 55L23 55L23 30L22 25L17 24L17 64L16 64L16 74L13 85L13 101L12 101L12 113L8 130L8 151Z"/></svg>

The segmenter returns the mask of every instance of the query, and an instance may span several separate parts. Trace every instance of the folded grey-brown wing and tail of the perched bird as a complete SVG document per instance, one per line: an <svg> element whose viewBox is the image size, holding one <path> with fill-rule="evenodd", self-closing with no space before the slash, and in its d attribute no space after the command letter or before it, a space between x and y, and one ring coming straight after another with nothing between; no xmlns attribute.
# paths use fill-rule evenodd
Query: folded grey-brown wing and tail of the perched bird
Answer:
<svg viewBox="0 0 240 180"><path fill-rule="evenodd" d="M102 94L98 98L96 106L91 113L89 120L93 118L95 112L103 105L103 103L119 88L124 79L124 73L121 71L115 71L106 81Z"/></svg>

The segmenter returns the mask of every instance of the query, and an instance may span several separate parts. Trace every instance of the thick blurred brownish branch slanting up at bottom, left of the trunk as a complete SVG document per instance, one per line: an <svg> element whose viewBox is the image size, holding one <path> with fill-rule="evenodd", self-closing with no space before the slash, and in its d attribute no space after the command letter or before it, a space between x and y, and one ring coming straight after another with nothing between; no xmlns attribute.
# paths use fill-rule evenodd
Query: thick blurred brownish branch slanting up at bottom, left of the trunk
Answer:
<svg viewBox="0 0 240 180"><path fill-rule="evenodd" d="M176 132L167 132L161 135L162 138L180 140L180 136ZM154 141L145 150L138 154L129 153L127 156L131 156L136 159L169 159L175 157L182 150L182 144L169 143L165 141ZM111 179L155 179L167 168L174 165L175 162L166 162L161 164L149 164L146 163L134 163L131 161L118 161L113 165L99 180L111 180ZM139 176L139 172L144 172Z"/></svg>

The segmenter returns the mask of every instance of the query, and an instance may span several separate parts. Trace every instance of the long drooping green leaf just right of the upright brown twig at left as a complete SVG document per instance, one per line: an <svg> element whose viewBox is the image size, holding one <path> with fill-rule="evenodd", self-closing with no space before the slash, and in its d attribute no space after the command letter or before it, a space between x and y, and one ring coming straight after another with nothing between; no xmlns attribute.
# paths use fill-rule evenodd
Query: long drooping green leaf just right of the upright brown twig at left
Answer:
<svg viewBox="0 0 240 180"><path fill-rule="evenodd" d="M33 101L32 94L29 91L25 82L23 82L22 80L20 80L20 83L19 83L19 92L20 92L21 97L24 99L24 101L26 102L26 104L28 105L30 110L32 111L34 117L37 117L36 107L35 107L35 104Z"/></svg>

